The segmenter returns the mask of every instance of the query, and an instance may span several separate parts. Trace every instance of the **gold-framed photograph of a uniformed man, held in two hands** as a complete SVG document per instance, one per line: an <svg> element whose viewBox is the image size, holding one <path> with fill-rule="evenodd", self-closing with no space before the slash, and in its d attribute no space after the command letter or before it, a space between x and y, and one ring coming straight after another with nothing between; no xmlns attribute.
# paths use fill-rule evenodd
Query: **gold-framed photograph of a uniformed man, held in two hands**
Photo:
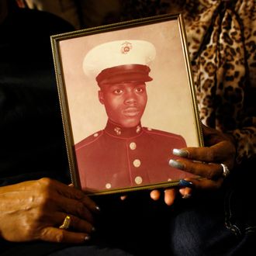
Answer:
<svg viewBox="0 0 256 256"><path fill-rule="evenodd" d="M51 36L71 178L89 195L192 175L174 148L203 144L182 14Z"/></svg>

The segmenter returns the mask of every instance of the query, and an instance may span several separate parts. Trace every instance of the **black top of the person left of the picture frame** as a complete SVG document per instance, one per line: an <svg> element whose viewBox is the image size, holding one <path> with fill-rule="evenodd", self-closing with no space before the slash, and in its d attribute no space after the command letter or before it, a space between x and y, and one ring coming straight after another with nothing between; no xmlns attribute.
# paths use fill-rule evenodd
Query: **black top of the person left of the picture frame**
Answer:
<svg viewBox="0 0 256 256"><path fill-rule="evenodd" d="M0 25L0 185L42 176L67 181L50 35L72 29L28 9Z"/></svg>

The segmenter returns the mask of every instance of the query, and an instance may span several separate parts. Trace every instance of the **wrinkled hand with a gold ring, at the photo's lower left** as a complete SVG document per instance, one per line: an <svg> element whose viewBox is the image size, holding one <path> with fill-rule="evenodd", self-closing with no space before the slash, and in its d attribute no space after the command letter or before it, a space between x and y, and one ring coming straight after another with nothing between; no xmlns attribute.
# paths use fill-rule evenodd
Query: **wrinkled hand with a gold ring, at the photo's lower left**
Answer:
<svg viewBox="0 0 256 256"><path fill-rule="evenodd" d="M0 188L0 237L9 241L81 243L98 207L83 192L42 178ZM71 216L69 230L58 227Z"/></svg>

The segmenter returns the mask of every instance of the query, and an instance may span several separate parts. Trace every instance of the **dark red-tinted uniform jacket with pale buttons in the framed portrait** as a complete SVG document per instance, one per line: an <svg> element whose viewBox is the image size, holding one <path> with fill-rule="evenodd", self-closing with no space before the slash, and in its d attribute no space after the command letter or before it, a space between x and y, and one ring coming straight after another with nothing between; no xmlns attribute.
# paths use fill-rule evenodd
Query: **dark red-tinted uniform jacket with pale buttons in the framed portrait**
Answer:
<svg viewBox="0 0 256 256"><path fill-rule="evenodd" d="M81 188L90 191L168 182L188 176L171 168L173 148L186 147L174 133L140 125L106 128L75 145Z"/></svg>

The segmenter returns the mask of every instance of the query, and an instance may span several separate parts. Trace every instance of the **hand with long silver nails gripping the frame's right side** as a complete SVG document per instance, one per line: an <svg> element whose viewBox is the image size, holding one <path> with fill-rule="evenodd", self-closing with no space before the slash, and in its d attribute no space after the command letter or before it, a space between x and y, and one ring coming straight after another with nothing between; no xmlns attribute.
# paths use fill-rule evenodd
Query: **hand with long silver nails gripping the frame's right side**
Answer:
<svg viewBox="0 0 256 256"><path fill-rule="evenodd" d="M223 184L223 167L226 164L229 170L234 168L236 148L231 137L220 133L217 130L202 125L205 147L185 147L176 152L181 157L174 161L176 168L198 175L201 179L185 178L192 182L189 187L181 189L166 189L164 191L164 202L171 206L175 197L182 194L184 198L189 197L193 189L219 189ZM192 188L191 188L192 187ZM154 200L160 198L160 192L150 192Z"/></svg>

